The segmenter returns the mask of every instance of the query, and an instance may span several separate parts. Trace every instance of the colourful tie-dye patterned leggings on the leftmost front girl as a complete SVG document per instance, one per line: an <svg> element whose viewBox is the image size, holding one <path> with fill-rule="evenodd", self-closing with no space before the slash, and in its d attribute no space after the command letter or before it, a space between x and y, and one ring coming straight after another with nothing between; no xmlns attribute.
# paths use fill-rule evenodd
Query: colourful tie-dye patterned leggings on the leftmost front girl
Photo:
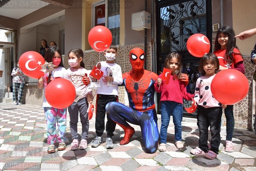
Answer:
<svg viewBox="0 0 256 171"><path fill-rule="evenodd" d="M64 142L66 140L66 108L44 107L44 114L47 125L47 144L54 144L57 141ZM56 122L58 124L58 135L56 133Z"/></svg>

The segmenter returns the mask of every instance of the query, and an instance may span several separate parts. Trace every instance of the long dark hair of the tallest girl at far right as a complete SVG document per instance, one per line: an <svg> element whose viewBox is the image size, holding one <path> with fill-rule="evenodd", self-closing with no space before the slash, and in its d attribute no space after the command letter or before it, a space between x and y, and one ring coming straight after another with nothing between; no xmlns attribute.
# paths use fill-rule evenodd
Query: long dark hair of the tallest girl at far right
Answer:
<svg viewBox="0 0 256 171"><path fill-rule="evenodd" d="M234 48L238 49L238 47L237 47L237 44L236 44L235 32L232 29L232 27L223 26L217 31L216 38L215 38L215 44L214 44L214 52L216 50L220 50L220 48L221 48L221 46L219 44L219 41L218 41L218 36L221 33L223 33L224 35L228 35L228 42L227 42L227 46L226 46L226 52L225 52L225 55L224 55L224 59L228 63L233 63L233 54L241 55L241 53L235 53L234 52ZM243 58L243 56L242 56L242 58Z"/></svg>

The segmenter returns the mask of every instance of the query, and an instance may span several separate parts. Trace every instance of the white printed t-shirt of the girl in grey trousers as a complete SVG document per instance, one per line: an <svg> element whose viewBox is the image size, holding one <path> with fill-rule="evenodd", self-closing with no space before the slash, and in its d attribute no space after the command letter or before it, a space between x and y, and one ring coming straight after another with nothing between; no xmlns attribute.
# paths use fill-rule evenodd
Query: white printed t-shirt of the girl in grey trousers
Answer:
<svg viewBox="0 0 256 171"><path fill-rule="evenodd" d="M83 83L83 77L85 76L85 73L87 76L89 76L87 69L82 67L79 69L74 69L70 67L64 74L64 78L69 80L75 86L76 92L83 95L81 98L87 97L87 94L92 95L92 90L88 89L87 86Z"/></svg>

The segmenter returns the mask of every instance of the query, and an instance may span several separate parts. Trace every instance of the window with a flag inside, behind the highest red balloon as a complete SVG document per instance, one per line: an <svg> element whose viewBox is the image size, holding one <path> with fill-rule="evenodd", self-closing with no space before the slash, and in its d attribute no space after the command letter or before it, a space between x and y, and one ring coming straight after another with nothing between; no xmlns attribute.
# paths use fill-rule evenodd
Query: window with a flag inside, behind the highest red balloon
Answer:
<svg viewBox="0 0 256 171"><path fill-rule="evenodd" d="M120 6L119 0L105 0L93 5L93 27L105 26L112 33L112 42L119 44Z"/></svg>

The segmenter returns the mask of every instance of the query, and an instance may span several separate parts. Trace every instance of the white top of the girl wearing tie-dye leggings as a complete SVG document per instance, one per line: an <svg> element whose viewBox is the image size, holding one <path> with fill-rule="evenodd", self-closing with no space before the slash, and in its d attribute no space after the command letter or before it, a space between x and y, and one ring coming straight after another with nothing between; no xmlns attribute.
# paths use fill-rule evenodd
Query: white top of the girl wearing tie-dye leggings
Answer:
<svg viewBox="0 0 256 171"><path fill-rule="evenodd" d="M55 71L52 71L52 75L50 77L50 79L58 79L58 78L63 78L64 73L66 72L66 69L63 68L62 66L59 66L58 68L54 69ZM51 105L49 105L49 103L47 102L46 98L45 98L45 89L46 86L48 84L48 77L49 77L49 73L44 74L43 79L44 79L44 101L43 101L43 107L52 107Z"/></svg>

